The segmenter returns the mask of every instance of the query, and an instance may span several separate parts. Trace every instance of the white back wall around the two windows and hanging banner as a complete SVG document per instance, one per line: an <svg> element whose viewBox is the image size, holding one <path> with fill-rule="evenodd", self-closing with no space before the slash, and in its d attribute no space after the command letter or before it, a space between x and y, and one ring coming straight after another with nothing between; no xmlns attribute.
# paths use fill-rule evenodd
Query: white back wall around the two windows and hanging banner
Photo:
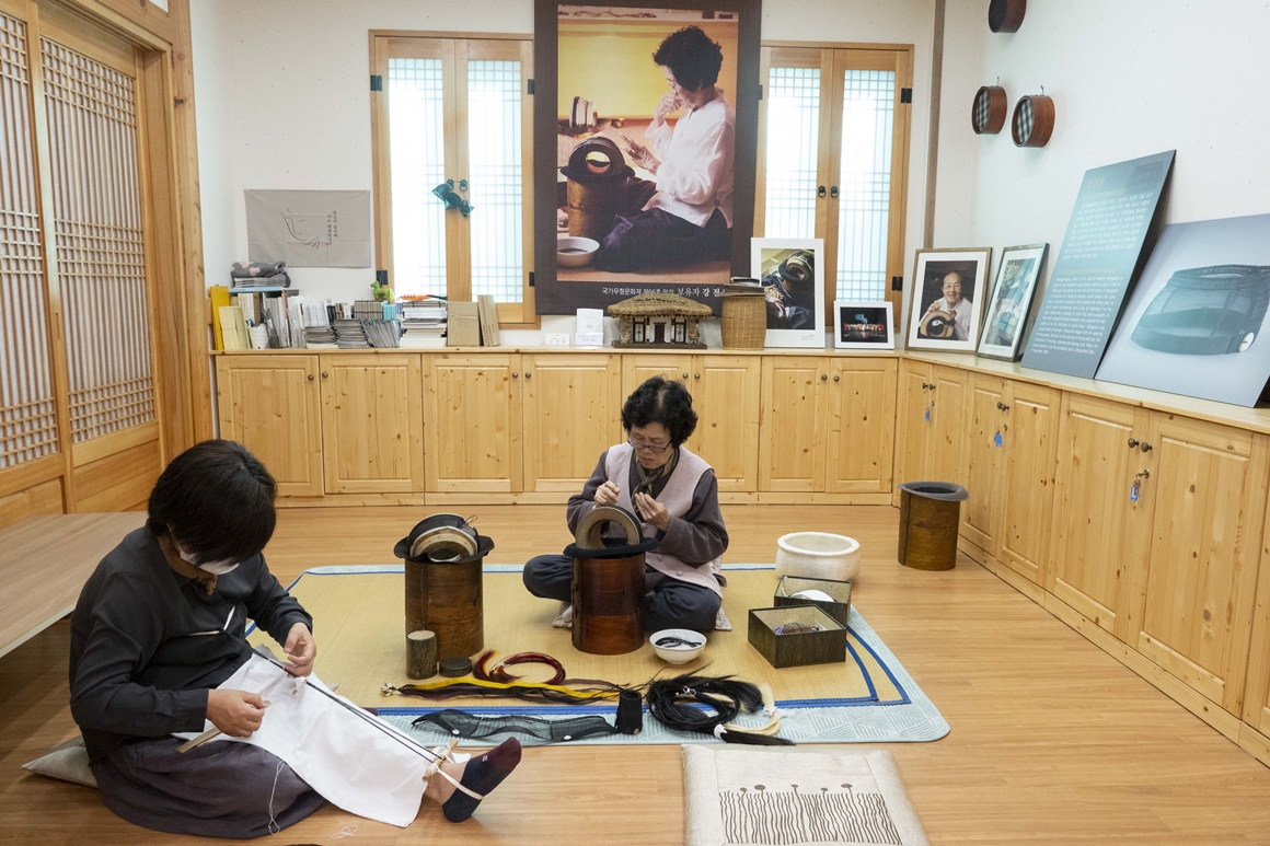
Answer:
<svg viewBox="0 0 1270 846"><path fill-rule="evenodd" d="M913 43L907 248L921 244L932 0L767 0L763 38ZM203 253L218 285L246 257L243 191L370 189L368 29L532 32L531 0L192 0ZM298 268L348 301L373 271ZM572 320L570 320L572 324ZM559 320L544 329L572 332Z"/></svg>

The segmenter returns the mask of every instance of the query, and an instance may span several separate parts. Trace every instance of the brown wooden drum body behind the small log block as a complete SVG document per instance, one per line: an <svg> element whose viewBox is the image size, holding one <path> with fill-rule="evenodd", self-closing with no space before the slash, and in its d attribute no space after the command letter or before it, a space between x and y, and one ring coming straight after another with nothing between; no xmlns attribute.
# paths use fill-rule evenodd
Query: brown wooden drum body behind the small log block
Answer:
<svg viewBox="0 0 1270 846"><path fill-rule="evenodd" d="M481 563L405 560L405 631L437 635L437 657L475 655L485 648Z"/></svg>

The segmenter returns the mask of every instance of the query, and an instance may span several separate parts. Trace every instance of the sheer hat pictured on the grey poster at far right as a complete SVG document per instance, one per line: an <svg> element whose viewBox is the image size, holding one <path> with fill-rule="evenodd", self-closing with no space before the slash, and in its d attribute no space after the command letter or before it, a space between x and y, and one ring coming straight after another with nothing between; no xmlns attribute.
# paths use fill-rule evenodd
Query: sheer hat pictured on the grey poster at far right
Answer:
<svg viewBox="0 0 1270 846"><path fill-rule="evenodd" d="M1130 339L1157 352L1226 356L1252 346L1270 306L1270 267L1217 264L1176 271Z"/></svg>

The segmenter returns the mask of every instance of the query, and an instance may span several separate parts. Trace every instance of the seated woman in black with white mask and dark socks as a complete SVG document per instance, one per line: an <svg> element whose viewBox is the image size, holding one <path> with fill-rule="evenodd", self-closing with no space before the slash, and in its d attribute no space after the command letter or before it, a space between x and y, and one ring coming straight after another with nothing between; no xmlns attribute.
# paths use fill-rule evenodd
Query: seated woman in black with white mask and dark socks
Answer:
<svg viewBox="0 0 1270 846"><path fill-rule="evenodd" d="M71 617L71 714L102 800L124 819L179 835L260 837L325 804L279 758L250 743L178 753L174 732L204 719L230 737L260 728L268 702L218 685L248 662L248 617L283 645L291 672L312 672L312 617L269 573L273 476L231 441L177 456L150 494L150 518L98 564ZM474 793L519 762L509 741L442 770ZM466 819L476 802L444 779L424 795Z"/></svg>

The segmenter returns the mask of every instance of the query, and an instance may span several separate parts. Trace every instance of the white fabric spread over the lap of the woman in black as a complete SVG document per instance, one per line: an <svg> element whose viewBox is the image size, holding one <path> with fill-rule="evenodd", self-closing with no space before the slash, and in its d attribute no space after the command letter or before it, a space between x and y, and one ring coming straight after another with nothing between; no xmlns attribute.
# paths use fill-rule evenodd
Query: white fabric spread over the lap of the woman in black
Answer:
<svg viewBox="0 0 1270 846"><path fill-rule="evenodd" d="M409 826L428 786L429 758L408 748L418 748L418 743L398 729L366 711L362 711L366 719L352 714L310 686L329 692L318 676L293 678L264 658L251 655L221 688L259 694L269 702L264 722L249 738L222 734L210 742L258 746L286 761L296 775L343 810L390 826ZM352 705L342 696L337 699ZM208 722L207 729L212 728ZM394 737L406 738L408 744Z"/></svg>

